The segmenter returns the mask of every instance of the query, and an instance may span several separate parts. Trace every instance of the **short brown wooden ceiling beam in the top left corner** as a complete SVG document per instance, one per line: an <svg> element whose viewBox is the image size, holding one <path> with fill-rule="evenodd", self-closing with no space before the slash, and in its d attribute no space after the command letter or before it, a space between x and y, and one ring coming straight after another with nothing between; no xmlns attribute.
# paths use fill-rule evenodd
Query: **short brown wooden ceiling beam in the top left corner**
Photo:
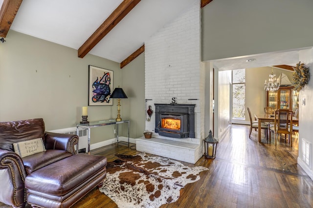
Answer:
<svg viewBox="0 0 313 208"><path fill-rule="evenodd" d="M5 38L19 11L22 0L3 0L0 9L0 37Z"/></svg>

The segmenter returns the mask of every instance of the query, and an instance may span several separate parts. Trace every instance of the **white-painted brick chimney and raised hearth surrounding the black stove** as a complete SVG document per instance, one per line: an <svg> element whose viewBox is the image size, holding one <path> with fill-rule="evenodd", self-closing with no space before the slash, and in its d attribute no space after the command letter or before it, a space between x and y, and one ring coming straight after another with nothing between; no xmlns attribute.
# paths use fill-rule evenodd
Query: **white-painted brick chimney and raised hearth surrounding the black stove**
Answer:
<svg viewBox="0 0 313 208"><path fill-rule="evenodd" d="M195 138L175 139L155 133L155 113L146 121L152 139L136 139L136 149L196 163L203 155L204 67L201 64L201 8L195 0L177 19L145 42L145 98L147 105L195 105ZM202 113L201 113L202 112Z"/></svg>

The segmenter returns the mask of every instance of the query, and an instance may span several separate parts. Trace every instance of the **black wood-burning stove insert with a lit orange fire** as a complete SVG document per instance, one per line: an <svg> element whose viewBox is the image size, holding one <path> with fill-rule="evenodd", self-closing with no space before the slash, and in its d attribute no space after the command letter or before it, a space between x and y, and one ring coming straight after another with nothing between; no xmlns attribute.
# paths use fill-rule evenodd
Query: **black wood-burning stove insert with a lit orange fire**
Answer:
<svg viewBox="0 0 313 208"><path fill-rule="evenodd" d="M195 138L195 105L155 104L155 132L172 138Z"/></svg>

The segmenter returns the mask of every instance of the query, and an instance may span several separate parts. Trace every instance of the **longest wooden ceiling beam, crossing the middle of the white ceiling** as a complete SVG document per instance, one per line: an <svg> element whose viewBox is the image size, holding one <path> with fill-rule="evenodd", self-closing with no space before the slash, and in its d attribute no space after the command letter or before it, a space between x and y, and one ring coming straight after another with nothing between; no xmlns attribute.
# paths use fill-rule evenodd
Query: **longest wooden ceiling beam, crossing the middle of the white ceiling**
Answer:
<svg viewBox="0 0 313 208"><path fill-rule="evenodd" d="M120 22L140 0L123 0L112 14L98 27L89 39L78 49L78 57L84 58Z"/></svg>

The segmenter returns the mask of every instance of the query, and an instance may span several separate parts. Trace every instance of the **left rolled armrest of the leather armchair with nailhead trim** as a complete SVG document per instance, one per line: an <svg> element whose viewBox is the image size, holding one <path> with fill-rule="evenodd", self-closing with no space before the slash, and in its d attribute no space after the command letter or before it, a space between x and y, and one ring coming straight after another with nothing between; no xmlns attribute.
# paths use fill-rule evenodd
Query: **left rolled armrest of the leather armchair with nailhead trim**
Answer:
<svg viewBox="0 0 313 208"><path fill-rule="evenodd" d="M13 151L0 149L0 198L13 207L20 207L26 202L26 171L21 157Z"/></svg>

